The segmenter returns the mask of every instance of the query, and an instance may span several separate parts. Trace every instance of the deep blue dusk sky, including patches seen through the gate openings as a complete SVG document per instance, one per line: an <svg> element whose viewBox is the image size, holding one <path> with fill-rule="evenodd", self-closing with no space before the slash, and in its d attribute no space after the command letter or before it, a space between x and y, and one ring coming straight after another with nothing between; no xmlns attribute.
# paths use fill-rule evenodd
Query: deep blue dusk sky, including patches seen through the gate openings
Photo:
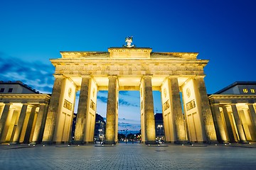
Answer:
<svg viewBox="0 0 256 170"><path fill-rule="evenodd" d="M235 81L256 81L256 1L78 1L0 2L0 80L23 81L51 93L60 51L107 51L132 35L153 52L199 52L208 94ZM105 117L107 91L97 113ZM154 110L161 98L154 91ZM156 111L157 110L157 111ZM119 94L119 129L139 128L139 92ZM122 125L122 126L121 126Z"/></svg>

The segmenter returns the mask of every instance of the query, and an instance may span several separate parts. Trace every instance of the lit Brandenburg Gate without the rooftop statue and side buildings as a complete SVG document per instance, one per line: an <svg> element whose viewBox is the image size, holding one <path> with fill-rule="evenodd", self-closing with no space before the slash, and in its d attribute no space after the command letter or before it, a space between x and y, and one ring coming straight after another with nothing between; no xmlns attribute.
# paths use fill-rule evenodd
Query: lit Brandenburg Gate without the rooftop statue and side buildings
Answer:
<svg viewBox="0 0 256 170"><path fill-rule="evenodd" d="M196 52L152 52L110 47L108 52L60 52L50 60L55 82L43 143L70 141L76 91L80 91L75 143L94 140L97 91L108 91L106 144L117 142L119 91L140 91L142 142L156 140L152 91L161 91L166 142L215 142L203 68Z"/></svg>

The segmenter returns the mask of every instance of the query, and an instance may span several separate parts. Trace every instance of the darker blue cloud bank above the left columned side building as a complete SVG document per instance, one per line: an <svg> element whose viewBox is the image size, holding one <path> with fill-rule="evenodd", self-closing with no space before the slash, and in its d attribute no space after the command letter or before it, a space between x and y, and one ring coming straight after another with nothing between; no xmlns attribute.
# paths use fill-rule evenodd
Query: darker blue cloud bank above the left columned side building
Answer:
<svg viewBox="0 0 256 170"><path fill-rule="evenodd" d="M50 94L53 89L54 67L42 62L24 61L0 52L0 77L2 81L22 81L23 84Z"/></svg>

